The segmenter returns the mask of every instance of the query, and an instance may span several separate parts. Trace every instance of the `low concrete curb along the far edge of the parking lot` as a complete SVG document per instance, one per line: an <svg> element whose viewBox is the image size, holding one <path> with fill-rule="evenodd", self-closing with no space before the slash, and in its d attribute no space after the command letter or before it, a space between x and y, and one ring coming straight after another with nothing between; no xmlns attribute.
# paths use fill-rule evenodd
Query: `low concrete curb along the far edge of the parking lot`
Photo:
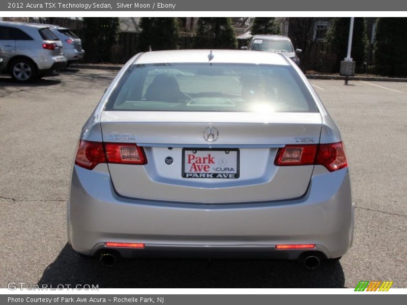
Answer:
<svg viewBox="0 0 407 305"><path fill-rule="evenodd" d="M78 69L98 69L98 70L115 70L122 69L122 65L86 65L86 64L72 64L69 68ZM333 79L333 80L345 80L344 76L340 75L320 75L320 74L306 74L308 79ZM395 77L369 77L369 76L350 76L348 80L370 80L370 81L393 81L393 82L407 82L407 78L395 78Z"/></svg>

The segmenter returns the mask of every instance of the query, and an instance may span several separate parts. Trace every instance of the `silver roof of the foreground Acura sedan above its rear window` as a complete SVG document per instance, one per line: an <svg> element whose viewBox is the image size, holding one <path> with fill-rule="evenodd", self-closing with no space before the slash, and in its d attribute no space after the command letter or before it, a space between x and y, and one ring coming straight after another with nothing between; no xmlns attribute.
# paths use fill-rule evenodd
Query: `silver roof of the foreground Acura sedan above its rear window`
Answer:
<svg viewBox="0 0 407 305"><path fill-rule="evenodd" d="M208 55L212 51L213 59ZM152 51L141 54L134 64L157 63L224 63L224 64L265 64L289 66L284 55L248 50L170 50Z"/></svg>

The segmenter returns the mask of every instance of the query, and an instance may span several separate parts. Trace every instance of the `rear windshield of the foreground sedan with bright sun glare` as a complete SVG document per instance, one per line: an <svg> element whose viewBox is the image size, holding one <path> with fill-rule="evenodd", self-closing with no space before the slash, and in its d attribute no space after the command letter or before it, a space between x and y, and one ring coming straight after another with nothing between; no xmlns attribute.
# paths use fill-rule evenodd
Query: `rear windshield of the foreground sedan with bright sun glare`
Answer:
<svg viewBox="0 0 407 305"><path fill-rule="evenodd" d="M318 112L290 66L132 65L105 110Z"/></svg>

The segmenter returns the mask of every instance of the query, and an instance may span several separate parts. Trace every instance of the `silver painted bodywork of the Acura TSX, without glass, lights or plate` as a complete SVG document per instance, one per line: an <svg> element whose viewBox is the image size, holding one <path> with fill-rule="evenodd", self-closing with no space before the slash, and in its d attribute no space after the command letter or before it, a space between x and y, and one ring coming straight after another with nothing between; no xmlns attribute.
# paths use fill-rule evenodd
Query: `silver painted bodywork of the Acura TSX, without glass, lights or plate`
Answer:
<svg viewBox="0 0 407 305"><path fill-rule="evenodd" d="M312 243L327 258L340 257L353 239L348 168L274 165L279 147L299 141L333 143L340 132L301 70L281 54L213 50L212 63L292 65L319 113L219 113L104 111L131 64L205 63L209 50L158 51L135 55L118 73L85 123L81 139L136 142L148 164L73 166L68 202L68 239L75 251L95 255L104 242L141 242L145 249L119 249L122 256L157 253L260 252L297 259L303 250L276 244ZM219 131L208 142L203 131ZM168 147L172 147L169 149ZM186 179L183 147L240 149L240 178ZM173 163L164 163L171 157Z"/></svg>

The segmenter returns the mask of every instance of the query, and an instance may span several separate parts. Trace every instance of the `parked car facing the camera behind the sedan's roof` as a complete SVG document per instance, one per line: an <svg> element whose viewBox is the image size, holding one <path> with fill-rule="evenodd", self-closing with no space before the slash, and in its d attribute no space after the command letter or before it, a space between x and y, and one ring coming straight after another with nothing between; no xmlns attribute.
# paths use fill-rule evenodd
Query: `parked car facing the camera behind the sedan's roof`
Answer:
<svg viewBox="0 0 407 305"><path fill-rule="evenodd" d="M249 50L283 53L300 66L301 49L294 51L293 43L286 36L280 35L254 35L249 42Z"/></svg>

